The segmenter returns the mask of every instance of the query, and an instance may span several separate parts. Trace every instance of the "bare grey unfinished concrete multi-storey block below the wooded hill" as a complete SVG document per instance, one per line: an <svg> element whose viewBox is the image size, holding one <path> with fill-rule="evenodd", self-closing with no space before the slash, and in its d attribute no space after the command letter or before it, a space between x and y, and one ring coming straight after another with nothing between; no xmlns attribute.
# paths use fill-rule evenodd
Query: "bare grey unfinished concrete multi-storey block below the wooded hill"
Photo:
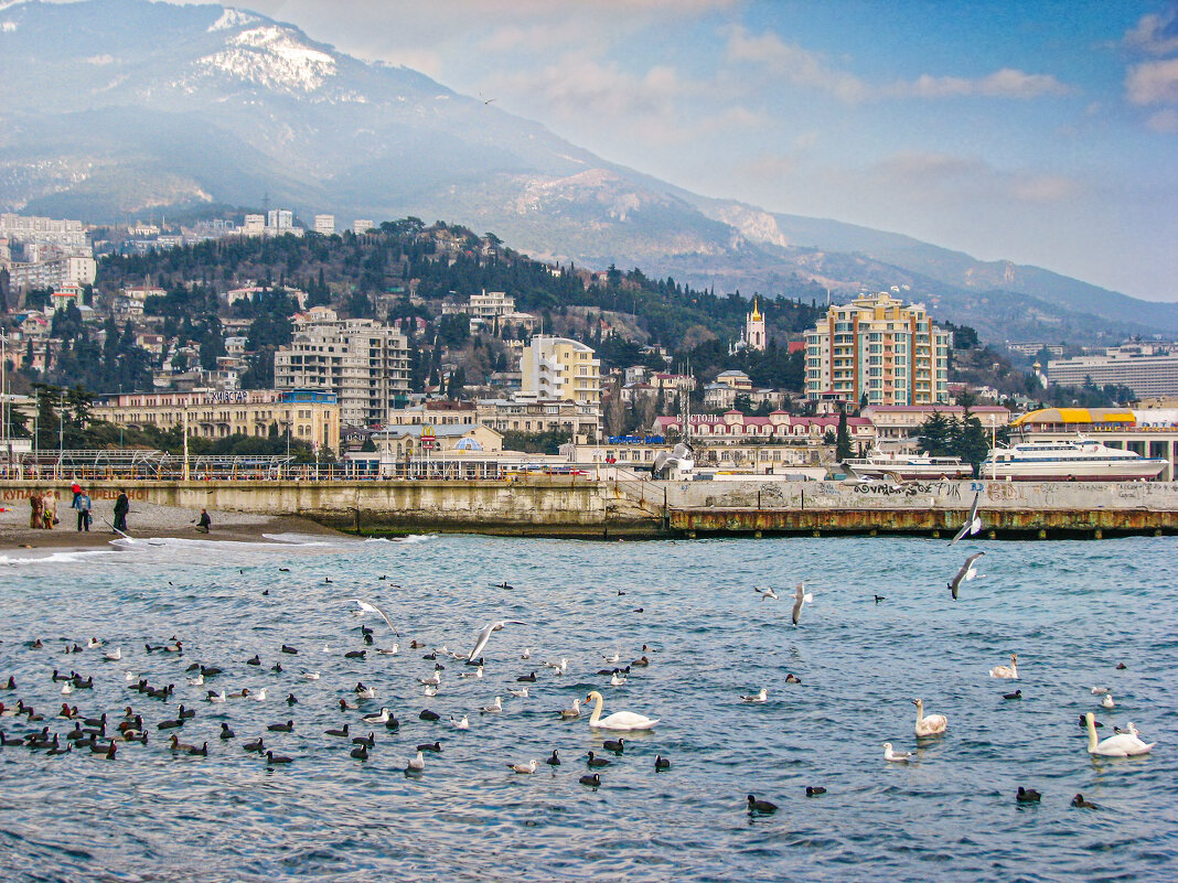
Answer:
<svg viewBox="0 0 1178 883"><path fill-rule="evenodd" d="M335 393L346 426L384 424L409 392L409 341L371 319L302 325L274 353L274 386Z"/></svg>

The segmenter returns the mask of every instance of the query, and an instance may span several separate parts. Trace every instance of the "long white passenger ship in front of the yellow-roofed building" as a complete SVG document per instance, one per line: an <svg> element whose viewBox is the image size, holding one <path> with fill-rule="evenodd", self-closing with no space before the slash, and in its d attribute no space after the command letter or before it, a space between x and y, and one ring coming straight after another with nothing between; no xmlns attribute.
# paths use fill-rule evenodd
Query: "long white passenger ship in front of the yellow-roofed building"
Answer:
<svg viewBox="0 0 1178 883"><path fill-rule="evenodd" d="M1163 459L1080 437L995 447L979 473L1014 482L1137 482L1157 478L1165 467Z"/></svg>

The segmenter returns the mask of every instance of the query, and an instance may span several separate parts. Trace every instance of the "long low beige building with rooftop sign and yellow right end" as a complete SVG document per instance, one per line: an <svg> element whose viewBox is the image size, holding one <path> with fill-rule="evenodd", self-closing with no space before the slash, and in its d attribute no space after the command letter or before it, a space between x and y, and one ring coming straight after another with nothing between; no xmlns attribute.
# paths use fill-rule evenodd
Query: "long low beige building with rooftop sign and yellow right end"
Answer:
<svg viewBox="0 0 1178 883"><path fill-rule="evenodd" d="M316 450L339 450L339 405L331 393L306 390L217 392L134 392L107 396L91 416L121 426L184 426L191 437L218 439L234 433L253 437L272 431L306 442Z"/></svg>

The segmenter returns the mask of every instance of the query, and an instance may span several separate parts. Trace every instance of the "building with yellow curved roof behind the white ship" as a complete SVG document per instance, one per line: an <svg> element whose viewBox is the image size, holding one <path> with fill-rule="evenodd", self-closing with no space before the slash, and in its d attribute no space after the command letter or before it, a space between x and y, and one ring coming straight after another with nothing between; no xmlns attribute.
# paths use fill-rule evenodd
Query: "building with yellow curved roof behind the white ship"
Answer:
<svg viewBox="0 0 1178 883"><path fill-rule="evenodd" d="M1077 436L1108 447L1166 462L1158 482L1178 479L1178 409L1048 407L1011 421L1012 442L1050 442Z"/></svg>

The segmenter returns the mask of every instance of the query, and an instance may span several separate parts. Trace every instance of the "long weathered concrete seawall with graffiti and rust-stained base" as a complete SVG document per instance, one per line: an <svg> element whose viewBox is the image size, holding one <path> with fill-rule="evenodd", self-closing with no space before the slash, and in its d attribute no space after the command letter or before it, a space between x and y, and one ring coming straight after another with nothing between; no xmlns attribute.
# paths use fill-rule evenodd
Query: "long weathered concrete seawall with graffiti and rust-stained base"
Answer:
<svg viewBox="0 0 1178 883"><path fill-rule="evenodd" d="M60 485L60 486L59 486ZM34 489L68 499L68 482L0 483L14 505ZM515 482L98 482L100 500L199 511L303 516L359 533L443 531L556 537L700 535L940 536L977 493L984 536L1178 533L1173 483L642 482L537 477ZM65 505L68 505L66 502Z"/></svg>

